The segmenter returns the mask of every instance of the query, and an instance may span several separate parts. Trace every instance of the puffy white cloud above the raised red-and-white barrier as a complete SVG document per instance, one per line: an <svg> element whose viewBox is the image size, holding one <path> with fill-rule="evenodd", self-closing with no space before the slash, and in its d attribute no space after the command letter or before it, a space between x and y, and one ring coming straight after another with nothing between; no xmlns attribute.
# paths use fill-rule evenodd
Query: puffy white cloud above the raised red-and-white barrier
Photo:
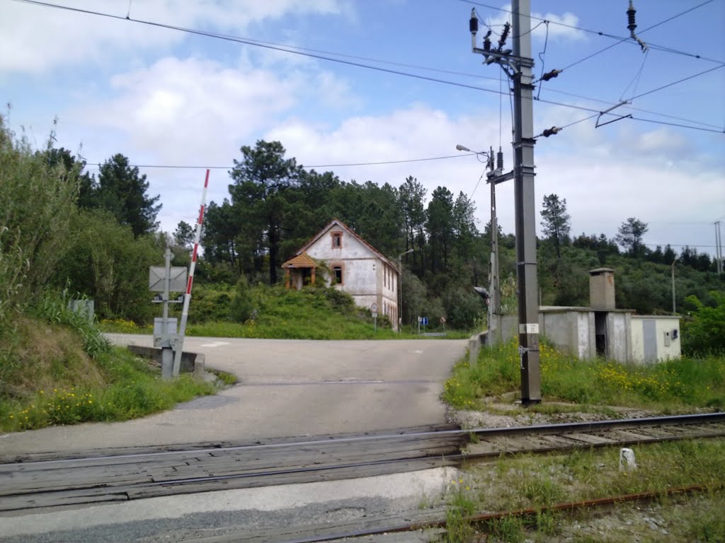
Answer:
<svg viewBox="0 0 725 543"><path fill-rule="evenodd" d="M89 125L125 132L133 150L152 151L157 160L228 159L230 145L294 106L298 79L165 58L113 77L117 98L84 108L83 117Z"/></svg>

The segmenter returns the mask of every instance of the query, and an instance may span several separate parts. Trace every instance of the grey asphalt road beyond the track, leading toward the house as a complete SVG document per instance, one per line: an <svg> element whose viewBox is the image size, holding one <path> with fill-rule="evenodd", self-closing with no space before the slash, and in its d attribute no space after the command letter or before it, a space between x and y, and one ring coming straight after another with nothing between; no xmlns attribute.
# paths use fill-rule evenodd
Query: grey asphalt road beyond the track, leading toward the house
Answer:
<svg viewBox="0 0 725 543"><path fill-rule="evenodd" d="M150 335L108 334L117 345ZM55 452L249 442L443 424L439 396L465 340L255 340L187 337L184 350L239 384L171 411L117 423L0 435L0 461Z"/></svg>

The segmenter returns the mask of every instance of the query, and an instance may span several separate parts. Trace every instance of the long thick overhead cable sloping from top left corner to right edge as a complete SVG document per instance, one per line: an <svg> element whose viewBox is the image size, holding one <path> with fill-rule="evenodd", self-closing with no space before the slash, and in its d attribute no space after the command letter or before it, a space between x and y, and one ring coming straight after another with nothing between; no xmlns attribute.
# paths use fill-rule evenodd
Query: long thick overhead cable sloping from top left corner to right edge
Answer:
<svg viewBox="0 0 725 543"><path fill-rule="evenodd" d="M77 13L83 13L83 14L96 15L96 16L99 16L99 17L107 17L107 18L115 19L115 20L128 21L128 22L136 22L138 24L152 26L154 28L165 28L167 30L177 30L179 32L184 32L184 33L189 33L189 34L194 34L194 35L202 35L202 36L205 36L207 38L216 38L216 39L220 39L220 40L224 40L224 41L231 41L231 42L234 42L234 43L244 43L245 45L257 46L257 47L262 47L262 48L265 48L265 49L272 49L274 51L282 51L282 52L291 53L291 54L297 54L297 55L301 55L301 56L309 56L311 58L321 59L321 60L327 60L329 62L337 62L339 64L346 64L346 65L349 65L349 66L367 68L368 70L376 70L378 72L384 72L384 73L389 73L389 74L394 74L394 75L402 75L404 77L413 77L414 79L431 81L432 83L442 83L444 85L452 85L452 86L460 87L460 88L470 88L470 89L473 89L473 90L481 90L481 91L486 92L486 93L501 94L501 92L499 90L494 90L494 89L485 88L485 87L479 87L479 86L476 86L476 85L468 85L467 83L458 83L458 82L455 82L455 81L449 81L449 80L439 79L437 77L428 77L426 75L418 75L418 74L413 74L413 73L410 73L410 72L401 72L399 70L392 70L392 69L384 68L384 67L371 66L370 64L363 64L363 63L360 63L360 62L353 62L353 61L344 60L344 59L336 59L334 57L325 56L325 55L321 55L321 54L307 53L305 51L296 51L294 49L289 49L288 47L285 47L285 46L275 46L275 45L270 45L268 43L262 43L262 42L257 42L257 41L253 41L253 40L248 40L246 38L235 38L233 36L222 35L222 34L212 33L212 32L207 32L207 31L204 31L204 30L195 30L193 28L184 28L184 27L178 27L178 26L175 26L175 25L166 25L165 23L161 23L161 22L154 22L154 21L146 21L146 20L140 20L140 19L126 18L126 17L121 17L120 15L114 15L114 14L103 13L103 12L96 12L96 11L93 11L93 10L90 10L90 9L80 9L80 8L75 8L75 7L62 6L62 5L59 5L59 4L51 4L49 2L44 2L44 1L39 1L39 0L12 0L12 1L20 2L22 4L32 4L32 5L36 5L36 6L39 6L39 7L49 7L49 8L54 8L54 9L62 9L62 10L70 11L70 12L77 12ZM461 1L463 1L463 0L461 0ZM481 5L484 5L484 4L481 4ZM693 76L693 77L695 77L695 76ZM489 79L494 80L493 77L490 77ZM650 91L650 92L654 92L654 90L653 91ZM531 98L531 99L533 99L533 98ZM568 107L568 108L571 108L571 109L579 109L581 111L590 111L590 112L600 113L600 111L597 111L595 109L585 108L585 107L581 107L581 106L575 106L573 104L564 104L562 102L556 102L556 101L551 101L551 100L539 100L539 101L544 102L544 103L547 103L547 104L556 105L556 106ZM635 119L635 120L646 120L647 122L658 123L658 121L655 121L654 119L639 119L639 118L634 118L634 117L633 117L633 119ZM674 125L672 123L666 123L666 122L661 122L661 124L663 124L663 125ZM674 126L676 126L676 125L674 125ZM715 133L721 133L721 132L723 132L722 130L709 130L707 128L693 127L693 126L687 126L687 125L681 125L681 127L682 128L689 128L690 130L701 130L701 131L705 131L705 132L715 132Z"/></svg>

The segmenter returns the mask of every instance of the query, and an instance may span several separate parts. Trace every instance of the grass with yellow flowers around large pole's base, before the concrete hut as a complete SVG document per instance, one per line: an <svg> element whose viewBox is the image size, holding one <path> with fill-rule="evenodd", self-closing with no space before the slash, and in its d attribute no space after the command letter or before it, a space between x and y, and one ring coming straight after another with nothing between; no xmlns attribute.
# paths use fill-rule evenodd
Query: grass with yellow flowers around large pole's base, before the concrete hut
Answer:
<svg viewBox="0 0 725 543"><path fill-rule="evenodd" d="M582 361L544 343L540 363L542 397L547 402L621 405L663 412L725 405L722 355L637 366L602 359ZM475 408L484 397L518 390L520 379L515 342L484 348L473 366L468 361L455 366L453 376L445 384L443 398L455 408Z"/></svg>

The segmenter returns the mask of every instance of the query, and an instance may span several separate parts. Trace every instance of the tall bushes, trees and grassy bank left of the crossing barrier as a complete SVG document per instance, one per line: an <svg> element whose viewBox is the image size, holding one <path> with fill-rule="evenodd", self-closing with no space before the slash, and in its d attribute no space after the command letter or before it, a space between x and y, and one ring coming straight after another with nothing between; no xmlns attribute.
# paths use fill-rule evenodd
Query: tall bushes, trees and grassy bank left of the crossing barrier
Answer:
<svg viewBox="0 0 725 543"><path fill-rule="evenodd" d="M92 298L104 316L152 314L146 269L163 243L149 235L155 199L132 196L145 179L117 156L96 183L64 149L35 151L4 123L0 116L0 430L120 421L212 393L190 376L162 382L147 361L110 348L86 308Z"/></svg>

